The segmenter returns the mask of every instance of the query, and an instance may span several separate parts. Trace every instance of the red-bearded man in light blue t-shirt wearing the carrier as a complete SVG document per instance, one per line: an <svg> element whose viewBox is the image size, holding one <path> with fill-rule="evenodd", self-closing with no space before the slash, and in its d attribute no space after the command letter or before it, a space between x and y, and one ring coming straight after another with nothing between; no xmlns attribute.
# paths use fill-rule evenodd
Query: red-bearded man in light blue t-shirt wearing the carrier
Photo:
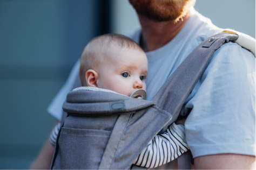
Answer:
<svg viewBox="0 0 256 170"><path fill-rule="evenodd" d="M130 3L142 25L130 37L149 60L146 83L147 100L151 100L186 56L221 29L191 9L194 0ZM256 169L255 65L250 52L228 42L215 52L185 101L180 114L190 114L185 129L195 169ZM35 166L44 161L49 168L52 154L53 147L46 141Z"/></svg>

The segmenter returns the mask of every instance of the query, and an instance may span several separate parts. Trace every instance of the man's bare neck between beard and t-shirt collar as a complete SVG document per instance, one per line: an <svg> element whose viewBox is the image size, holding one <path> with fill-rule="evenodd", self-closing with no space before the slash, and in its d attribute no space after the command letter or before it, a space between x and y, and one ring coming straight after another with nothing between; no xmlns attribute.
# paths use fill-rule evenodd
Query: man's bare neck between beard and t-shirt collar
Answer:
<svg viewBox="0 0 256 170"><path fill-rule="evenodd" d="M170 42L183 28L190 13L188 13L183 20L177 23L156 22L148 19L142 15L138 15L140 24L142 25L142 37L140 38L140 46L145 52L154 51L163 47Z"/></svg>

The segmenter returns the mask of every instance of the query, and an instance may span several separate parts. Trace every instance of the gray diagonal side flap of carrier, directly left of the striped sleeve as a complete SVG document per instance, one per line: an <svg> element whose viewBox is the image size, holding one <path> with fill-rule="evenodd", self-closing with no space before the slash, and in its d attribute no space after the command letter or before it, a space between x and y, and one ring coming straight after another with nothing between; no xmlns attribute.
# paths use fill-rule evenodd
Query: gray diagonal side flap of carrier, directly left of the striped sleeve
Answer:
<svg viewBox="0 0 256 170"><path fill-rule="evenodd" d="M165 123L170 121L171 116L171 114L156 107L143 109L131 115L123 136L119 139L110 169L129 168L148 141L158 133L159 129L163 128Z"/></svg>

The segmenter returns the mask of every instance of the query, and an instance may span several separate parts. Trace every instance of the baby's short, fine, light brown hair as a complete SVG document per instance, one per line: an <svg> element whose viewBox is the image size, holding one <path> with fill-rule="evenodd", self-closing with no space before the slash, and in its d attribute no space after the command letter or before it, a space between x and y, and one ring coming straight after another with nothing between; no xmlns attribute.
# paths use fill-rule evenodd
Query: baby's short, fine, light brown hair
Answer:
<svg viewBox="0 0 256 170"><path fill-rule="evenodd" d="M86 71L97 68L100 57L106 56L114 47L136 49L143 52L136 42L121 34L110 33L93 38L84 48L80 59L79 76L82 86L86 86Z"/></svg>

